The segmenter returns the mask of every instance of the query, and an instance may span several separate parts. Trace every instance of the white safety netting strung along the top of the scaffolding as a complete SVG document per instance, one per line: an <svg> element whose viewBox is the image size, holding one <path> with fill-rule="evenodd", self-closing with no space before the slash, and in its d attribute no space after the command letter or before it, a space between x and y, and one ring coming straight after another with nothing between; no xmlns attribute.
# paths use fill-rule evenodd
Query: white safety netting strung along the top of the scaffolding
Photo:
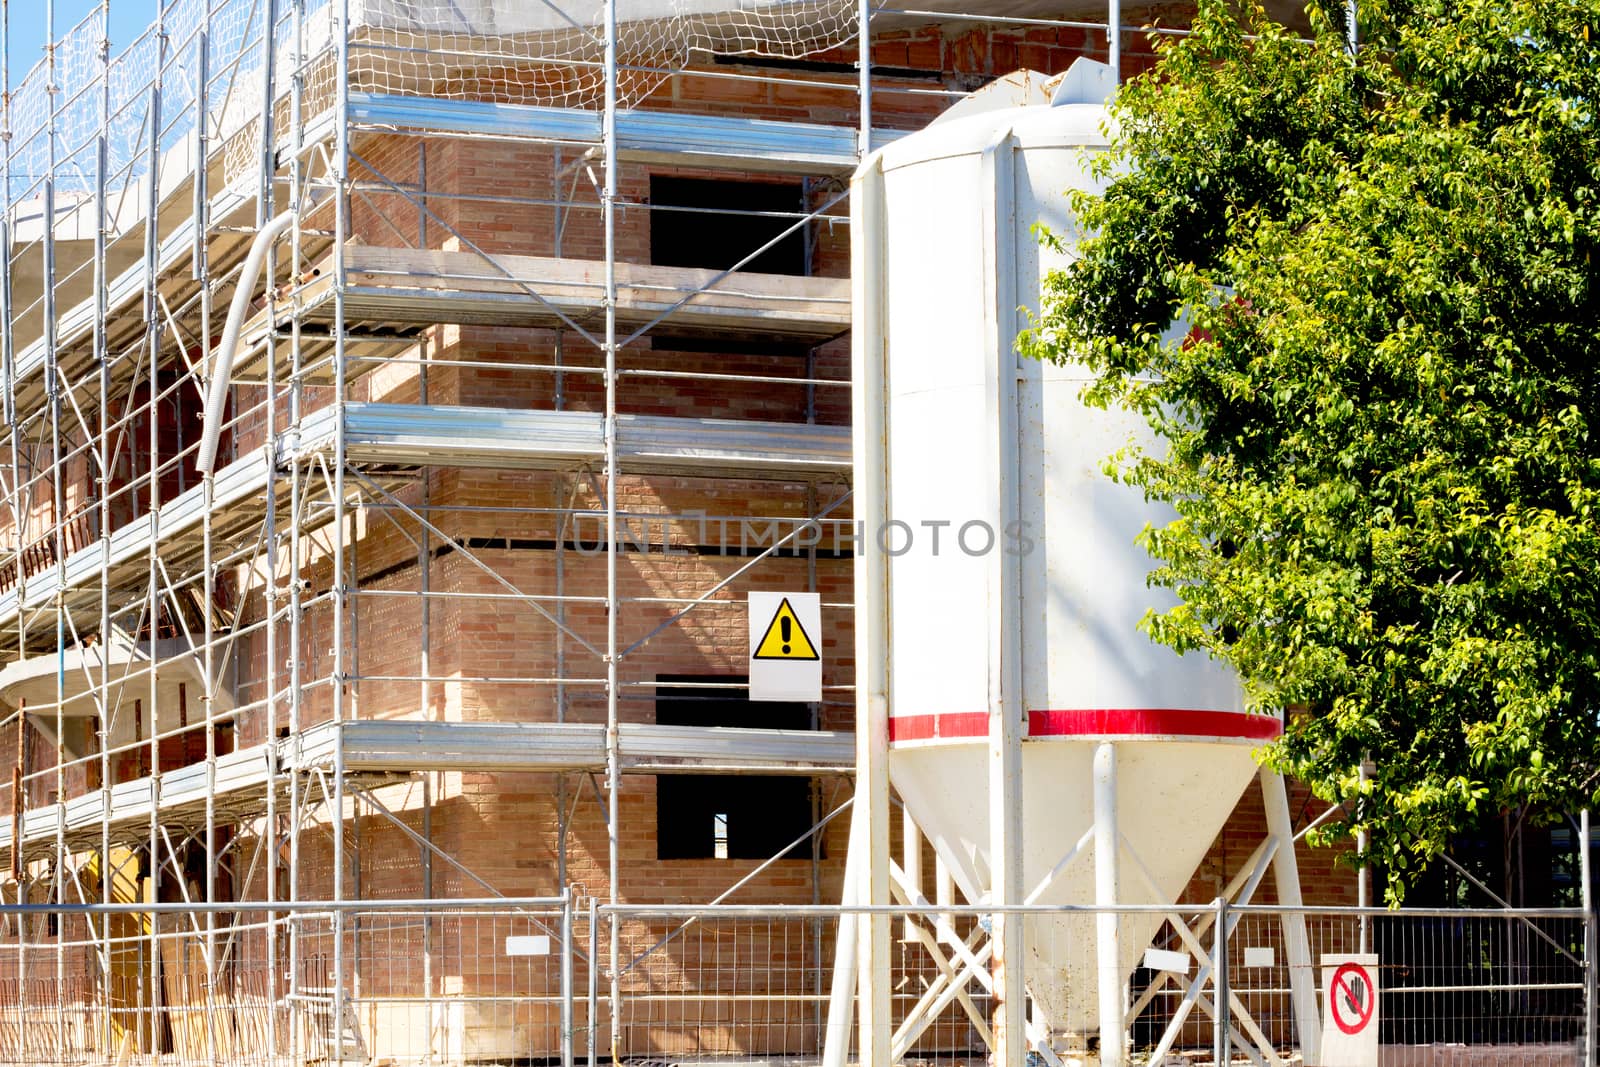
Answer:
<svg viewBox="0 0 1600 1067"><path fill-rule="evenodd" d="M142 214L155 181L192 173L195 131L224 147L224 182L256 173L266 110L264 61L275 61L274 128L282 144L296 115L298 74L309 122L341 77L352 91L598 107L605 98L603 0L170 0L133 42L109 42L96 6L11 86L0 150L13 218L37 216L53 178L58 218L93 198L106 141L107 227ZM854 0L618 0L618 104L629 107L696 54L800 59L854 40ZM349 18L349 66L338 64L339 13ZM13 42L13 54L29 43ZM53 90L53 91L51 91ZM202 118L203 117L203 118ZM26 206L22 206L26 202ZM66 205L66 208L62 206ZM82 208L77 208L82 211Z"/></svg>

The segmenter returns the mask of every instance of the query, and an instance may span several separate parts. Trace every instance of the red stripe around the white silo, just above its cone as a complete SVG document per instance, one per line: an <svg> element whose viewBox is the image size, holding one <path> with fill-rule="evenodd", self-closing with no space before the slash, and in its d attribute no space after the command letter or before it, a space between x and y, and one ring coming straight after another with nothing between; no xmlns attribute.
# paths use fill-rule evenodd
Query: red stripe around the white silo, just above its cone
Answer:
<svg viewBox="0 0 1600 1067"><path fill-rule="evenodd" d="M1029 737L1176 736L1272 741L1283 725L1270 715L1210 712L1184 707L1091 707L1027 713ZM989 734L987 712L891 715L890 741L971 741Z"/></svg>

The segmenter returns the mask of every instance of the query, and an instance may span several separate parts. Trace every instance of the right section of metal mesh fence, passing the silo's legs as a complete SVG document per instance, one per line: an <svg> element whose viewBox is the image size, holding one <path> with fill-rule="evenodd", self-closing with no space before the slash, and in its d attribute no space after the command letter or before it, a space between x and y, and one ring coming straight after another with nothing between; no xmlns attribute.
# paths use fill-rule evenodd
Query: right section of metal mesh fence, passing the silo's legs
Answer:
<svg viewBox="0 0 1600 1067"><path fill-rule="evenodd" d="M622 928L621 1049L696 1059L821 1057L842 913L606 909L602 934L613 915ZM1029 1043L1045 1062L1096 1053L1098 913L1054 909L1022 917ZM1118 912L1128 961L1128 1062L1214 1062L1214 918L1211 907ZM1285 918L1304 923L1309 965L1291 958ZM894 910L888 981L896 1062L989 1056L992 920L970 909ZM1379 1062L1578 1064L1586 1038L1584 934L1579 913L1230 910L1227 1040L1237 1062L1301 1054L1291 971L1309 966L1312 987L1320 989L1334 958L1371 952L1379 958ZM1157 953L1146 955L1144 945ZM1157 969L1173 966L1174 957L1184 960L1182 969ZM602 1032L605 993L602 984L590 1005ZM1326 1017L1322 993L1318 1011Z"/></svg>

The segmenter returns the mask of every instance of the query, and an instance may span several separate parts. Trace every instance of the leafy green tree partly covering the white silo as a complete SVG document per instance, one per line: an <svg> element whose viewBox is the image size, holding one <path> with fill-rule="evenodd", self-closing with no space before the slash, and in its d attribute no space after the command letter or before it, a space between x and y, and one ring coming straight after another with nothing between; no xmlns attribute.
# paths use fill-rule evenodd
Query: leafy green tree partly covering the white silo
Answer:
<svg viewBox="0 0 1600 1067"><path fill-rule="evenodd" d="M1363 0L1355 56L1334 8L1202 0L1021 346L1163 438L1150 635L1298 710L1267 758L1398 899L1600 785L1600 0Z"/></svg>

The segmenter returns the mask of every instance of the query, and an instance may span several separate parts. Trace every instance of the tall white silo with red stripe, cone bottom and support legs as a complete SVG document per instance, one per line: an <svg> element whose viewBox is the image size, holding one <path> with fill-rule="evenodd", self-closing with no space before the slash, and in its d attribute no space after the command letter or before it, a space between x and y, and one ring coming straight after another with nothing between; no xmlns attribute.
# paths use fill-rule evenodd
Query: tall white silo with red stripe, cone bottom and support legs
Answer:
<svg viewBox="0 0 1600 1067"><path fill-rule="evenodd" d="M1040 278L1072 254L1064 194L1096 187L1088 162L1107 144L1110 88L1110 70L1082 59L1051 82L1018 72L875 152L853 179L854 502L866 537L845 896L1160 910L995 912L965 939L947 921L906 921L898 929L936 957L938 977L893 1016L890 923L846 920L826 1067L843 1064L858 979L872 1067L957 1009L997 1065L1018 1067L1029 1051L1056 1064L1091 1046L1120 1065L1150 1000L1128 997L1146 963L1182 990L1141 1049L1160 1064L1195 1006L1227 1009L1211 1003L1211 936L1195 907L1176 905L1253 782L1267 837L1222 894L1246 902L1272 873L1278 902L1299 904L1283 782L1251 755L1280 723L1245 713L1222 665L1139 630L1171 600L1147 587L1136 541L1174 515L1112 482L1104 462L1157 442L1138 414L1082 403L1082 368L1014 350L1029 325L1016 309L1037 309ZM1035 222L1062 253L1040 246ZM899 862L890 784L906 816ZM934 872L922 870L922 838ZM1178 941L1147 957L1163 925ZM1299 1049L1315 1064L1301 917L1283 920L1283 949ZM987 1024L976 992L992 998ZM1235 1048L1275 1062L1269 1035L1237 998L1229 1006Z"/></svg>

